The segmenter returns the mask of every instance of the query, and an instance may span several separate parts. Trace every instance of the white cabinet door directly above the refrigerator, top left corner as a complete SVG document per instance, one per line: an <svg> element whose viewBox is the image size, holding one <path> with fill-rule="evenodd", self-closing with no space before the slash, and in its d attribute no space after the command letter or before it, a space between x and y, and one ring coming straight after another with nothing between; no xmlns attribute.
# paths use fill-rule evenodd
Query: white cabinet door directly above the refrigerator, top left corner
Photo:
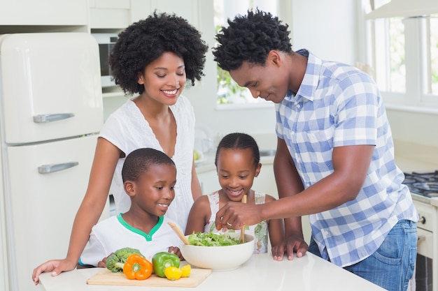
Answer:
<svg viewBox="0 0 438 291"><path fill-rule="evenodd" d="M0 25L86 25L87 0L0 0Z"/></svg>

